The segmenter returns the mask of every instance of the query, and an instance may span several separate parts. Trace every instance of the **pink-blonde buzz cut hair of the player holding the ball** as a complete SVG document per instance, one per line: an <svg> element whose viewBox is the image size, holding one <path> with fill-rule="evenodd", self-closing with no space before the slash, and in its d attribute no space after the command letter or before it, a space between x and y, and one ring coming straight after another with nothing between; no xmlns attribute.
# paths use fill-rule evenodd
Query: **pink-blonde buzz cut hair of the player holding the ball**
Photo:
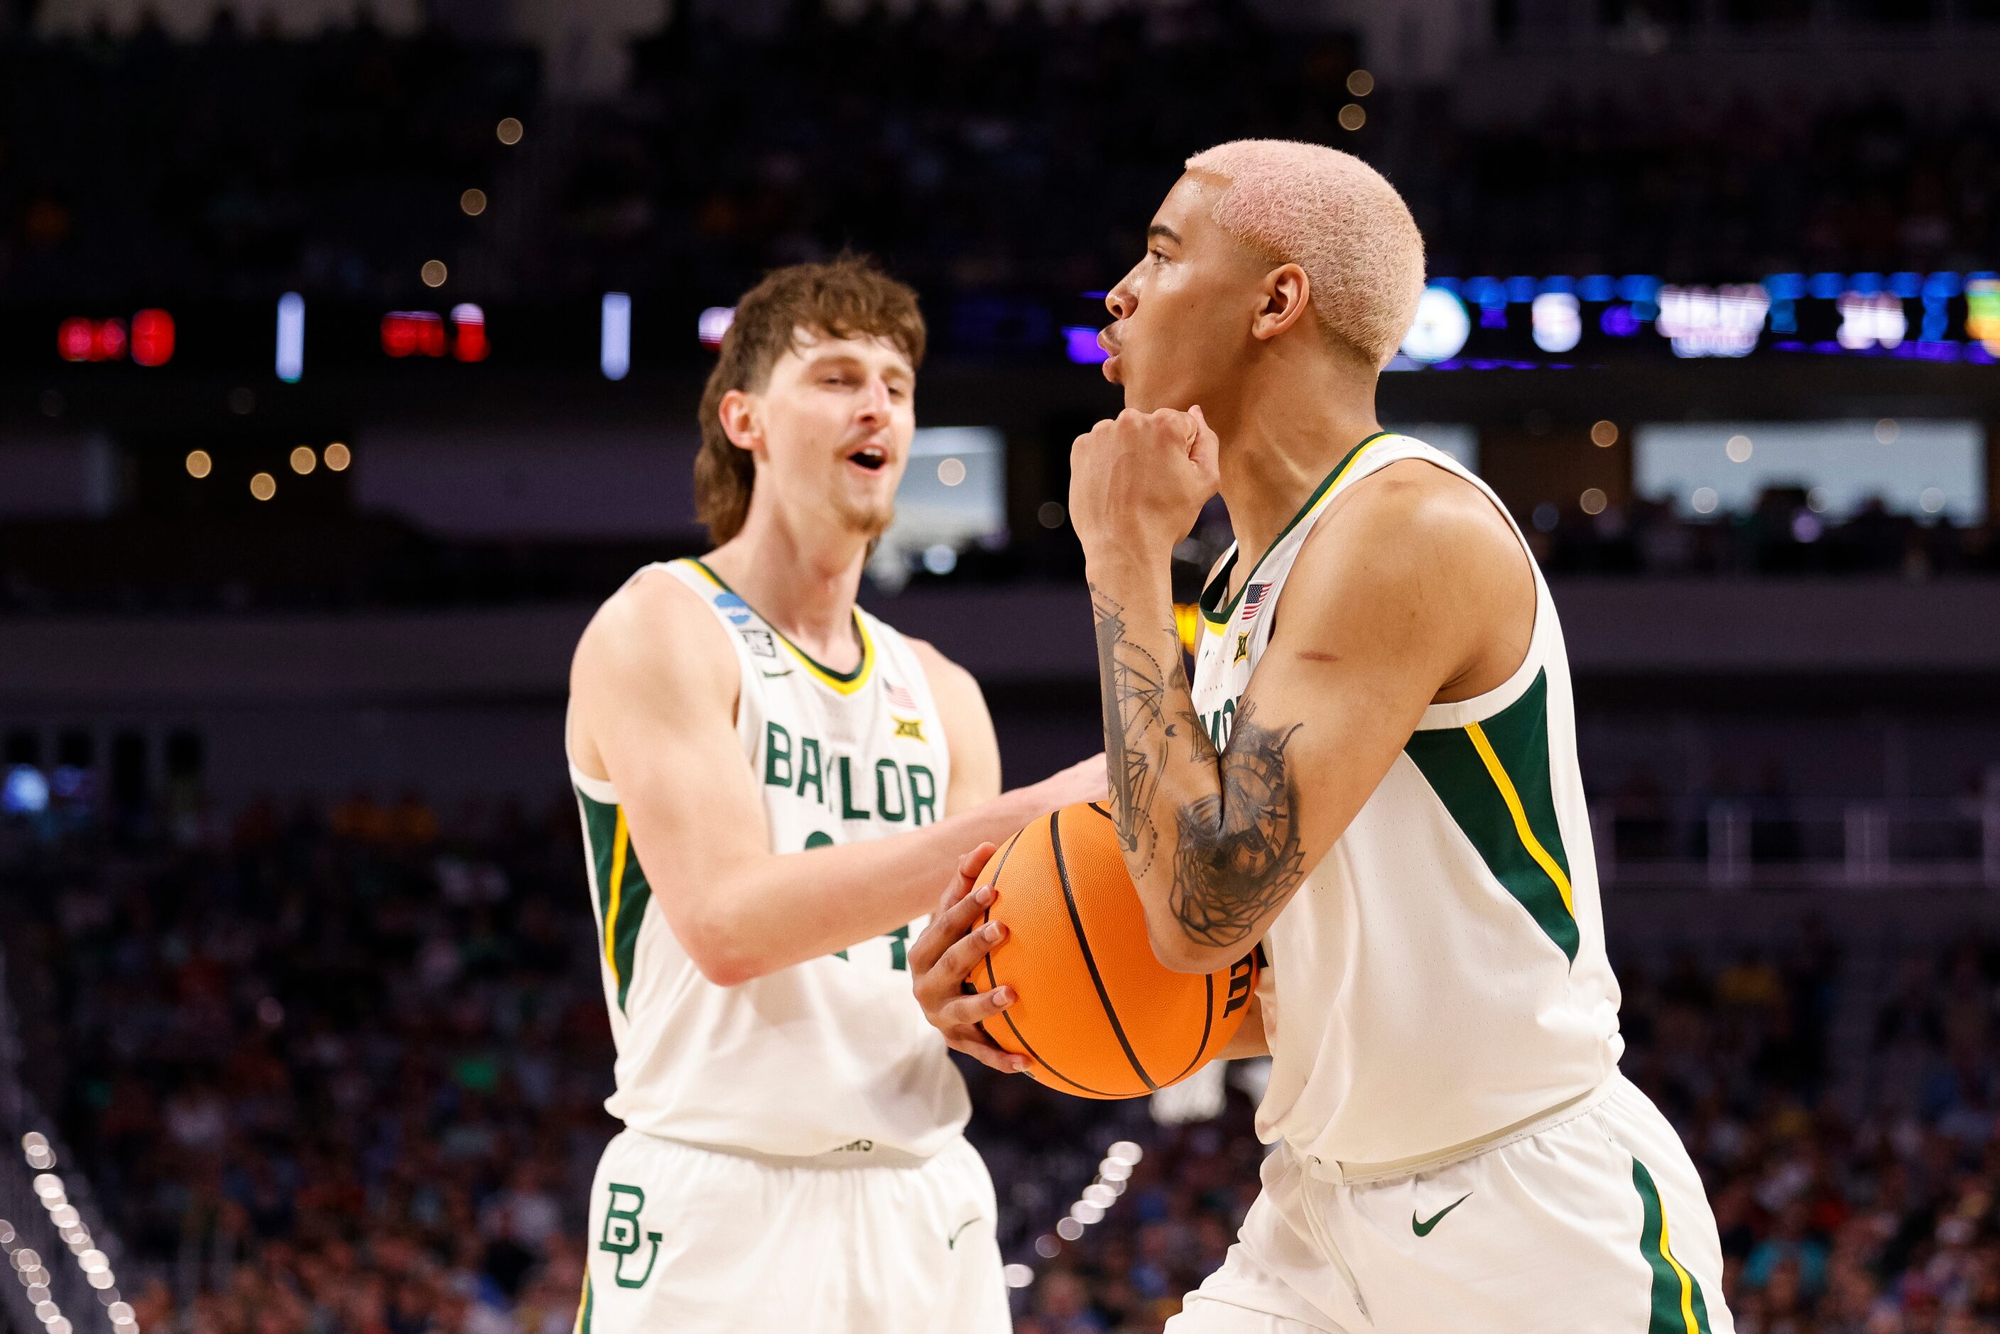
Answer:
<svg viewBox="0 0 2000 1334"><path fill-rule="evenodd" d="M1382 172L1338 148L1278 138L1218 144L1186 166L1228 178L1216 226L1306 270L1320 324L1388 366L1424 292L1424 238Z"/></svg>

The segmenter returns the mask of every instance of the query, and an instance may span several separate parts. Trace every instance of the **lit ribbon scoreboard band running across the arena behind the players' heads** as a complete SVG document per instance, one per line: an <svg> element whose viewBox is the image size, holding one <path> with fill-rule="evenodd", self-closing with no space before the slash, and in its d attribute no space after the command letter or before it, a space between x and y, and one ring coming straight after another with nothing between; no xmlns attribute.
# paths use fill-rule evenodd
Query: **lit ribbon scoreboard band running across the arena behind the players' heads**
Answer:
<svg viewBox="0 0 2000 1334"><path fill-rule="evenodd" d="M946 354L1102 360L1102 292L926 302ZM732 310L606 292L544 304L362 306L298 292L268 304L0 312L0 376L628 372L698 364ZM2000 274L1766 274L1686 284L1650 274L1428 282L1390 370L1582 370L1616 360L1872 356L2000 362Z"/></svg>

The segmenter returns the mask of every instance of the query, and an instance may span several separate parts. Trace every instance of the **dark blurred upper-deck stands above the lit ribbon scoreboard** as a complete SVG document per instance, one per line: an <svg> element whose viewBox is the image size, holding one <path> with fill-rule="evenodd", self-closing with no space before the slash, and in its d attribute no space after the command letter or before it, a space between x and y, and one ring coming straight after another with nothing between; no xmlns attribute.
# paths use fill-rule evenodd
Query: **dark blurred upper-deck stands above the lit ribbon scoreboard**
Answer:
<svg viewBox="0 0 2000 1334"><path fill-rule="evenodd" d="M930 298L1074 294L1130 266L1186 154L1242 136L1374 160L1440 274L1720 282L2000 256L1992 112L1846 82L1762 102L1558 92L1470 126L1442 92L1356 92L1354 38L1276 30L1242 0L858 20L800 0L762 34L686 10L636 44L622 96L560 110L526 46L366 26L286 42L228 6L196 44L12 42L0 292L380 298L422 292L418 264L444 256L480 300L728 300L854 244ZM1348 104L1366 112L1352 132ZM514 148L502 116L526 124ZM490 212L462 214L468 186Z"/></svg>

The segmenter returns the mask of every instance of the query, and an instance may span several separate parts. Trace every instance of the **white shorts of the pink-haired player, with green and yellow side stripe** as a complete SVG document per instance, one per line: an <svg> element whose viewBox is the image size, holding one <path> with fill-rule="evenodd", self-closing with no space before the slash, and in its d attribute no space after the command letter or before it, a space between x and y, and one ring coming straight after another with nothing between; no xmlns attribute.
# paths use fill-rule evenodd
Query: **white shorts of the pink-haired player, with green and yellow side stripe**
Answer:
<svg viewBox="0 0 2000 1334"><path fill-rule="evenodd" d="M1328 1168L1264 1160L1168 1334L1734 1334L1702 1180L1624 1076L1434 1168Z"/></svg>

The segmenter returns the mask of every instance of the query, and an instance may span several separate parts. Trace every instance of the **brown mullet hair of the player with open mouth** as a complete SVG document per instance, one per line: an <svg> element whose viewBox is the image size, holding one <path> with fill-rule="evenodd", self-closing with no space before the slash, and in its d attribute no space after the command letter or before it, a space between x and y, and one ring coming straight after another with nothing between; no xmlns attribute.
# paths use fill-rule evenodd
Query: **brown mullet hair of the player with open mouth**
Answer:
<svg viewBox="0 0 2000 1334"><path fill-rule="evenodd" d="M842 254L826 264L790 264L736 302L736 320L722 336L722 354L702 390L702 452L694 458L694 512L708 540L722 546L750 514L756 460L730 444L722 430L722 396L754 394L770 382L770 368L798 346L800 334L820 338L884 338L924 362L924 316L916 292L896 282L874 260Z"/></svg>

